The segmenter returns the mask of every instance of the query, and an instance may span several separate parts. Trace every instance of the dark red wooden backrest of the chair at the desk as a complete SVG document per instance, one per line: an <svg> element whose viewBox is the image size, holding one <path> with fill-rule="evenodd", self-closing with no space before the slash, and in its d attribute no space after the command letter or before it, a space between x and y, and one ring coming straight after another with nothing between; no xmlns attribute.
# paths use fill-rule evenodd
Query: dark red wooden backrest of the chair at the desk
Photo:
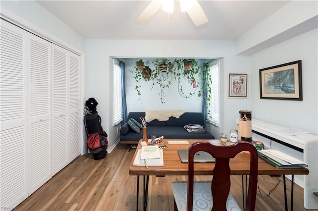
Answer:
<svg viewBox="0 0 318 211"><path fill-rule="evenodd" d="M255 147L245 141L239 141L231 146L217 146L209 142L196 142L189 147L188 152L188 196L187 210L192 211L193 207L193 176L194 176L194 155L198 151L205 151L216 158L212 178L212 211L226 211L226 202L230 193L230 158L234 158L242 151L250 153L249 183L246 199L246 211L255 210L258 156Z"/></svg>

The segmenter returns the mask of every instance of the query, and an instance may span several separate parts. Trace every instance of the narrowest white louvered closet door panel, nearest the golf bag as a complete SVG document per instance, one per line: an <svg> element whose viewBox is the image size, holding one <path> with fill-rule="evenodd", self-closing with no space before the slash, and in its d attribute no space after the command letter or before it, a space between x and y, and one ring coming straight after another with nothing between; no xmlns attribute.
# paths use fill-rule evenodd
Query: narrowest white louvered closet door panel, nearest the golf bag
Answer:
<svg viewBox="0 0 318 211"><path fill-rule="evenodd" d="M79 55L70 54L69 62L69 162L77 158L79 150Z"/></svg>

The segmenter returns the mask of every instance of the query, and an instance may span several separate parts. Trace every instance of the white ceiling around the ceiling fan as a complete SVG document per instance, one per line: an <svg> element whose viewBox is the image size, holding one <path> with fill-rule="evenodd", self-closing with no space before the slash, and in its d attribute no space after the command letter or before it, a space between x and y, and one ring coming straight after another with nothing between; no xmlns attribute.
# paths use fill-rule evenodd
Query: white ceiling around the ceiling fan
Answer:
<svg viewBox="0 0 318 211"><path fill-rule="evenodd" d="M39 0L87 39L236 40L283 7L287 0L199 0L209 22L195 26L175 1L174 13L159 11L146 23L136 17L150 0Z"/></svg>

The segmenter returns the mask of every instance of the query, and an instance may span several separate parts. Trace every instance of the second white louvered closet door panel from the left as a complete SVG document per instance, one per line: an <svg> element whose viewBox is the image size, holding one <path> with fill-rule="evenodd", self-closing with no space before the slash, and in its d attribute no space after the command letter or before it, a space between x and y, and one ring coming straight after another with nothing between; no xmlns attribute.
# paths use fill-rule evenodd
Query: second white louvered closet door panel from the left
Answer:
<svg viewBox="0 0 318 211"><path fill-rule="evenodd" d="M28 40L29 194L52 177L51 172L51 43Z"/></svg>

